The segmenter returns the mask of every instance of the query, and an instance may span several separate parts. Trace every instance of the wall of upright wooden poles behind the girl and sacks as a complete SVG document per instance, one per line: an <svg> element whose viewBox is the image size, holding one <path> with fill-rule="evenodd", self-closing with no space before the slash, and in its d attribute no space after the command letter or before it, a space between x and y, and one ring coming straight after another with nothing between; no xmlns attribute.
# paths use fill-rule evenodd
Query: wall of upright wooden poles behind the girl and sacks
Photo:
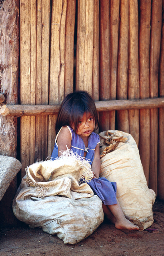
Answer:
<svg viewBox="0 0 164 256"><path fill-rule="evenodd" d="M164 0L20 0L18 103L60 104L75 89L95 101L164 97L163 9ZM101 111L99 120L99 131L132 134L148 185L164 199L164 108ZM21 177L51 156L55 121L18 118Z"/></svg>

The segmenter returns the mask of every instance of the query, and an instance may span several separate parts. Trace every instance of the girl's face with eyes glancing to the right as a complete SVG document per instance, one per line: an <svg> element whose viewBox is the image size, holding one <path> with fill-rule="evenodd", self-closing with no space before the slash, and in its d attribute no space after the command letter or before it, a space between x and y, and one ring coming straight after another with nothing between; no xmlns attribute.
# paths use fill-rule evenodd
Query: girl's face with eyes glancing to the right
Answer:
<svg viewBox="0 0 164 256"><path fill-rule="evenodd" d="M74 130L74 125L72 126ZM95 122L93 116L90 112L85 112L83 117L78 122L78 130L76 134L80 135L81 137L89 137L91 133L94 131Z"/></svg>

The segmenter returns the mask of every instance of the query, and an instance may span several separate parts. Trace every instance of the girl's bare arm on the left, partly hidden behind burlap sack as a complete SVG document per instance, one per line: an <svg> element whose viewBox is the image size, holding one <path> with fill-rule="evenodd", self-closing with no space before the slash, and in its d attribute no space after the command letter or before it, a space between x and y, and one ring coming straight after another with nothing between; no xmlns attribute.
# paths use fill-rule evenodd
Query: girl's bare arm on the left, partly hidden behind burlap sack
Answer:
<svg viewBox="0 0 164 256"><path fill-rule="evenodd" d="M58 144L58 156L61 156L62 150L67 150L67 147L71 147L71 134L68 129L68 127L64 126L57 138L57 144Z"/></svg>

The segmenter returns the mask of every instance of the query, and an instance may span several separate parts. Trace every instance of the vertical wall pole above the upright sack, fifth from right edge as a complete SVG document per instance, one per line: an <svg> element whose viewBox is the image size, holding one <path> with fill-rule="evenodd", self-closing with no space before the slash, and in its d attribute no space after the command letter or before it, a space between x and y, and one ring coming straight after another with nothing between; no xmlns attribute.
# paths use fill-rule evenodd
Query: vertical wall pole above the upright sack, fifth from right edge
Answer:
<svg viewBox="0 0 164 256"><path fill-rule="evenodd" d="M117 99L127 98L128 71L128 2L120 0L119 52L117 71ZM117 112L118 129L129 132L128 110Z"/></svg>

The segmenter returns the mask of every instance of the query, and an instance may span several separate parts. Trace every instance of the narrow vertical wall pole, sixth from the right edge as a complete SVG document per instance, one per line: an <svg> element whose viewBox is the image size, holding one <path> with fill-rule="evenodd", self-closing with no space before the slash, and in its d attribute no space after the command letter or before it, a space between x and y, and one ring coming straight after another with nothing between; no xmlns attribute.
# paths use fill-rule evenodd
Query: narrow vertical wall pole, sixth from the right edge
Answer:
<svg viewBox="0 0 164 256"><path fill-rule="evenodd" d="M116 99L120 0L110 1L110 100ZM115 130L115 111L110 111L110 129Z"/></svg>

